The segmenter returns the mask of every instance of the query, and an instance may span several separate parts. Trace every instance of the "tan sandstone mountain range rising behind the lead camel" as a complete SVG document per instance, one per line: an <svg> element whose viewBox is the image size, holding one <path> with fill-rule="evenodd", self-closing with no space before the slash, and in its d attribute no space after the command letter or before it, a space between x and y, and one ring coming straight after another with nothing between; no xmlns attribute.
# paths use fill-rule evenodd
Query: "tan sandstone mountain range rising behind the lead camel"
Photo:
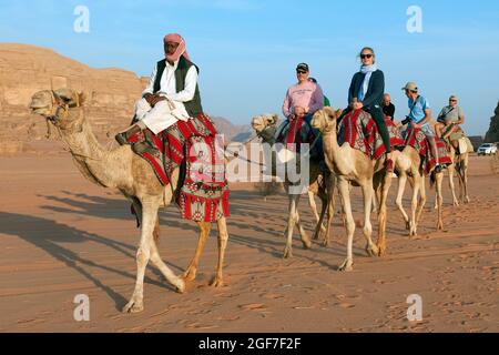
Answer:
<svg viewBox="0 0 499 355"><path fill-rule="evenodd" d="M31 95L39 90L71 88L85 93L88 119L98 139L109 142L129 125L147 80L123 69L91 68L42 47L0 43L0 141L44 139L45 121L28 111ZM214 120L226 141L249 131L249 126L224 118Z"/></svg>

